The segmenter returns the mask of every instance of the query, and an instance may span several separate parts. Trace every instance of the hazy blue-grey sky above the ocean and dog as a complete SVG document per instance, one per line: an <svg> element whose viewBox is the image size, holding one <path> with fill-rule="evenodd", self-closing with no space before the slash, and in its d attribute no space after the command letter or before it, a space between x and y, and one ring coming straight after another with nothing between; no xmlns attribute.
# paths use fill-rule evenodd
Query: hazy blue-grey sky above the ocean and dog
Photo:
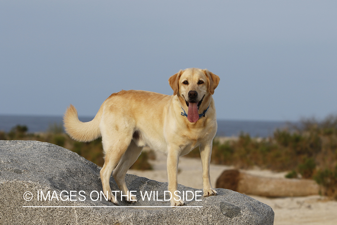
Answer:
<svg viewBox="0 0 337 225"><path fill-rule="evenodd" d="M94 116L113 92L220 77L218 119L337 114L337 1L1 1L0 115Z"/></svg>

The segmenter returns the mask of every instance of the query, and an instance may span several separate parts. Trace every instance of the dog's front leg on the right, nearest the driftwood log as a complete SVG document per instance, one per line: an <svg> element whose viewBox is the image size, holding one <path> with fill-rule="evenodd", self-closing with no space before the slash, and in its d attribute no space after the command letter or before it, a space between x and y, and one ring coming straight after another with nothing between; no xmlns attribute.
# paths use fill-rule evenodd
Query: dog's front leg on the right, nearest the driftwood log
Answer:
<svg viewBox="0 0 337 225"><path fill-rule="evenodd" d="M200 145L201 164L203 167L203 185L204 197L217 195L217 192L212 188L210 177L210 162L212 153L212 141L205 145Z"/></svg>

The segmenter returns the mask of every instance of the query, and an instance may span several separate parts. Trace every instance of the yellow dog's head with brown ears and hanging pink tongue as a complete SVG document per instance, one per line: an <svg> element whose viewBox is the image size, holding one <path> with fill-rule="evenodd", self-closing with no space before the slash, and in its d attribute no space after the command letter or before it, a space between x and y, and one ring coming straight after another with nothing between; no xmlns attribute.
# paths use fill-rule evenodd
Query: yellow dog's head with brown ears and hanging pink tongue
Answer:
<svg viewBox="0 0 337 225"><path fill-rule="evenodd" d="M181 70L168 79L173 95L178 95L181 104L187 105L187 118L190 122L196 122L199 119L198 111L202 103L205 101L209 104L207 100L214 94L219 81L220 78L217 75L207 69L198 68Z"/></svg>

